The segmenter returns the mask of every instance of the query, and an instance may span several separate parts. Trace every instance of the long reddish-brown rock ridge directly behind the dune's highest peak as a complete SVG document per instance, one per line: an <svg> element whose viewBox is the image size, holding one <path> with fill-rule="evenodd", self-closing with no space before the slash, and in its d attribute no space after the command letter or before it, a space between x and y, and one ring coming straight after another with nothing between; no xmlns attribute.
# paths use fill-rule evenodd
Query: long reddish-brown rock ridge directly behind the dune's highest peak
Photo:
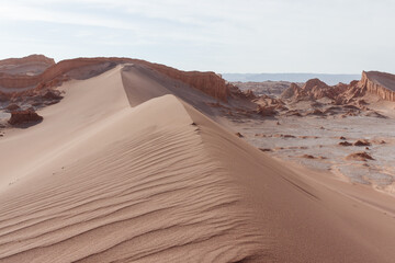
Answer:
<svg viewBox="0 0 395 263"><path fill-rule="evenodd" d="M229 95L225 80L214 72L182 71L165 65L131 58L76 58L54 64L40 75L0 73L0 95L23 95L26 91L56 87L68 79L91 78L115 67L117 64L127 62L145 65L224 102Z"/></svg>

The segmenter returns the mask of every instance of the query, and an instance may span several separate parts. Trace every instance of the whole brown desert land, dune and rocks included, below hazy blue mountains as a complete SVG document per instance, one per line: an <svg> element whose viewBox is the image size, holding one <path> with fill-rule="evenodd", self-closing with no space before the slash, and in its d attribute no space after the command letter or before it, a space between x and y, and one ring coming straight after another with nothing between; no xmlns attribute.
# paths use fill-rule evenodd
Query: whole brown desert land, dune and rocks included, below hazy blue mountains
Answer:
<svg viewBox="0 0 395 263"><path fill-rule="evenodd" d="M0 262L394 262L394 94L1 60Z"/></svg>

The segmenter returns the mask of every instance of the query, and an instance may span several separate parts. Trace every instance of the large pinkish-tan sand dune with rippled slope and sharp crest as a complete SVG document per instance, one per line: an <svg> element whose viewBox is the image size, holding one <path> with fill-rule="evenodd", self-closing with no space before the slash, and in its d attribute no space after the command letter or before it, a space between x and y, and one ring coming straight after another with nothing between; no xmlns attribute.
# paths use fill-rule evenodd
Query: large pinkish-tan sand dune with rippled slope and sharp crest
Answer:
<svg viewBox="0 0 395 263"><path fill-rule="evenodd" d="M9 132L0 262L392 262L391 213L261 153L181 85L117 67Z"/></svg>

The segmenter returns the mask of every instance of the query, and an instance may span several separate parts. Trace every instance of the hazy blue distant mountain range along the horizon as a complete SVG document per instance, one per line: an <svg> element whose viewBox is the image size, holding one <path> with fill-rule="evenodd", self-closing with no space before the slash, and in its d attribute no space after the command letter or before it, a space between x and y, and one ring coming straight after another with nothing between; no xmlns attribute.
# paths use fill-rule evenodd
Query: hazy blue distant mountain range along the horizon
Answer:
<svg viewBox="0 0 395 263"><path fill-rule="evenodd" d="M329 85L339 82L350 83L360 80L361 75L328 75L328 73L223 73L223 78L230 82L262 82L262 81L289 81L306 82L309 79L320 79Z"/></svg>

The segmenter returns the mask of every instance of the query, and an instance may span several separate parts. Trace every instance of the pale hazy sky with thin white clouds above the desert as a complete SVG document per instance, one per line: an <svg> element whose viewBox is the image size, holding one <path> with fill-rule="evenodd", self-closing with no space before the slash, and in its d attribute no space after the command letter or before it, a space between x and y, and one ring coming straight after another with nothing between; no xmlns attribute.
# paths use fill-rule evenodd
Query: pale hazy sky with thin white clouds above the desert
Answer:
<svg viewBox="0 0 395 263"><path fill-rule="evenodd" d="M0 58L217 72L395 73L394 0L0 0Z"/></svg>

